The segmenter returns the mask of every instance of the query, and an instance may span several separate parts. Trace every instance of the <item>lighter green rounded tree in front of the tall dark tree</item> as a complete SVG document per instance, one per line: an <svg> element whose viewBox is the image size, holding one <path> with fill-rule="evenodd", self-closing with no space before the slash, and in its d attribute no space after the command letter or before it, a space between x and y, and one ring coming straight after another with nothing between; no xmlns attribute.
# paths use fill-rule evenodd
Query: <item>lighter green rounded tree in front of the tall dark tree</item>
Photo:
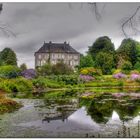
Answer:
<svg viewBox="0 0 140 140"><path fill-rule="evenodd" d="M102 70L103 74L111 74L114 67L114 58L112 54L99 52L95 58L95 67Z"/></svg>

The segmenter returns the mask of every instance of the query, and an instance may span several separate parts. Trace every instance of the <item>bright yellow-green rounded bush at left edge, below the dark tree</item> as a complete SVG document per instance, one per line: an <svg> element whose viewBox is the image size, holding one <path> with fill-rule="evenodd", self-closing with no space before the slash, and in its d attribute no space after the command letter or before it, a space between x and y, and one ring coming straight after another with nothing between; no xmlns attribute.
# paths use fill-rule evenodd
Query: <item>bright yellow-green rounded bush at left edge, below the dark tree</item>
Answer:
<svg viewBox="0 0 140 140"><path fill-rule="evenodd" d="M17 66L7 65L0 66L0 77L1 78L16 78L20 73L20 68Z"/></svg>

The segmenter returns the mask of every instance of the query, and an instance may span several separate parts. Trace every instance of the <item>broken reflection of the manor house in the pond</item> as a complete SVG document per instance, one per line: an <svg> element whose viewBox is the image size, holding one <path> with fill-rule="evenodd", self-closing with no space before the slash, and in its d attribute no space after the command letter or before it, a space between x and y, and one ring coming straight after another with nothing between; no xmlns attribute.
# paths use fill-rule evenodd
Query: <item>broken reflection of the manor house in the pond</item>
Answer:
<svg viewBox="0 0 140 140"><path fill-rule="evenodd" d="M64 103L48 101L44 106L36 106L39 111L42 122L51 122L62 120L63 122L68 119L78 109L77 101L68 101Z"/></svg>

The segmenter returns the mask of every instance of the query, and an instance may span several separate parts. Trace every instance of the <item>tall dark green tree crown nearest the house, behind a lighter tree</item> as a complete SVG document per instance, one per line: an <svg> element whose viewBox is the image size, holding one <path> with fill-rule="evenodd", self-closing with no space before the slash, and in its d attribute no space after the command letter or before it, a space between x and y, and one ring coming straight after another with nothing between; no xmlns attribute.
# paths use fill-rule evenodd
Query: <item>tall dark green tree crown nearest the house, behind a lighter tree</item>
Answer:
<svg viewBox="0 0 140 140"><path fill-rule="evenodd" d="M88 53L91 54L93 60L96 59L96 56L100 52L105 52L109 54L114 54L115 48L114 44L111 42L111 39L107 36L99 37L92 46L89 47Z"/></svg>

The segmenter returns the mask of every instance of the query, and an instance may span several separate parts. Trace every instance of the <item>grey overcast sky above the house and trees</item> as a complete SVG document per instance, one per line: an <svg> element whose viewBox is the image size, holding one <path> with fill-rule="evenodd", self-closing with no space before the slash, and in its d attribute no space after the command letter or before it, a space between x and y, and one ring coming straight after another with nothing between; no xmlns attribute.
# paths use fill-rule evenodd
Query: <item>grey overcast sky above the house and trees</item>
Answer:
<svg viewBox="0 0 140 140"><path fill-rule="evenodd" d="M67 41L85 53L96 38L106 35L118 48L124 39L121 23L135 12L138 4L100 3L101 19L97 20L87 3L4 3L0 25L6 24L16 37L7 37L1 31L0 51L10 47L17 53L19 65L26 63L34 68L34 52L44 41ZM140 41L139 35L134 38Z"/></svg>

